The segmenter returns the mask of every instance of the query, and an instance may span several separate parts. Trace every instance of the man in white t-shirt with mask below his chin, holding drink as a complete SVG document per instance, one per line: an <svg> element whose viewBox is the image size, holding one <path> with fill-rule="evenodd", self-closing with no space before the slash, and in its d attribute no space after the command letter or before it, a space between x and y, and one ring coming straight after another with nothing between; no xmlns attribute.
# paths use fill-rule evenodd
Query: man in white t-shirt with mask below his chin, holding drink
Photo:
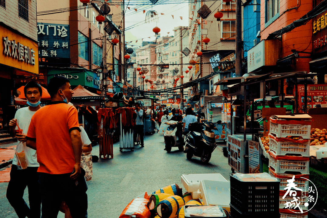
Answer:
<svg viewBox="0 0 327 218"><path fill-rule="evenodd" d="M29 107L16 111L15 118L9 122L9 133L11 137L18 139L16 149L23 150L27 163L26 169L18 169L16 156L12 161L10 171L10 181L7 188L7 199L15 209L17 216L21 217L41 217L41 194L39 189L39 174L37 170L39 163L36 159L36 150L26 146L26 134L33 114L41 108L42 87L40 84L31 81L24 87L24 93ZM15 129L23 129L23 133L16 134ZM19 143L23 143L23 148L19 148ZM21 144L20 144L21 145ZM23 199L24 190L28 188L29 206Z"/></svg>

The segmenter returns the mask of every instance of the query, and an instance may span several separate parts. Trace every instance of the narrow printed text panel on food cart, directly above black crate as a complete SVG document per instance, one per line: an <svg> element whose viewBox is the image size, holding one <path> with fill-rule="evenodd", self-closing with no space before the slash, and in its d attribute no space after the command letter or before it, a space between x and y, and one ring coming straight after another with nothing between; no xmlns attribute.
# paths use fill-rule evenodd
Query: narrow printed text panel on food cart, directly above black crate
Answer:
<svg viewBox="0 0 327 218"><path fill-rule="evenodd" d="M262 149L259 142L249 141L249 173L262 173Z"/></svg>

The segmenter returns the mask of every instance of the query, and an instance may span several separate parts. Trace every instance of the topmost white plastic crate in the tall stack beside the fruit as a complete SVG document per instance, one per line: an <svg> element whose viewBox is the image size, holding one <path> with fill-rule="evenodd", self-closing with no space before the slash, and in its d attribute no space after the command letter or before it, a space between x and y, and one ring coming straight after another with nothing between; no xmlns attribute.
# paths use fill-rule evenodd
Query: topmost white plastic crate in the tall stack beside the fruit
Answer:
<svg viewBox="0 0 327 218"><path fill-rule="evenodd" d="M287 136L302 136L303 139L310 139L311 125L278 124L273 123L272 120L276 121L270 119L269 132L275 134L276 137L286 138Z"/></svg>

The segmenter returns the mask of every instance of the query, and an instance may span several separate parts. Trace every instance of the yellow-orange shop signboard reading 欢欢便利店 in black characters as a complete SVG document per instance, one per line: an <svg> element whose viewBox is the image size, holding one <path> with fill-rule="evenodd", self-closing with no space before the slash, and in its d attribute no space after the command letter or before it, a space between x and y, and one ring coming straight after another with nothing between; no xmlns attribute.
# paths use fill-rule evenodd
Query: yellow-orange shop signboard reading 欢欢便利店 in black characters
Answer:
<svg viewBox="0 0 327 218"><path fill-rule="evenodd" d="M0 25L0 64L33 74L39 73L37 43Z"/></svg>

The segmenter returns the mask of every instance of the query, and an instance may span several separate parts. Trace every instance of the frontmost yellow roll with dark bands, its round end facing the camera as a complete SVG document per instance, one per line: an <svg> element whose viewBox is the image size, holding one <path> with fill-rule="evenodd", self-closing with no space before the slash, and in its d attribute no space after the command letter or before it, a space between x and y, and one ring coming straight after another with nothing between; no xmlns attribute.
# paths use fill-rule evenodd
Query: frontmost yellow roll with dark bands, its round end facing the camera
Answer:
<svg viewBox="0 0 327 218"><path fill-rule="evenodd" d="M173 195L159 202L157 213L161 218L175 218L177 211L185 205L184 199Z"/></svg>

